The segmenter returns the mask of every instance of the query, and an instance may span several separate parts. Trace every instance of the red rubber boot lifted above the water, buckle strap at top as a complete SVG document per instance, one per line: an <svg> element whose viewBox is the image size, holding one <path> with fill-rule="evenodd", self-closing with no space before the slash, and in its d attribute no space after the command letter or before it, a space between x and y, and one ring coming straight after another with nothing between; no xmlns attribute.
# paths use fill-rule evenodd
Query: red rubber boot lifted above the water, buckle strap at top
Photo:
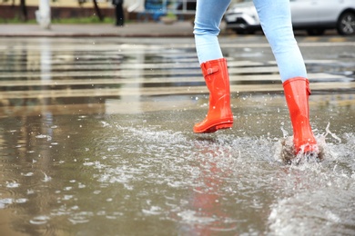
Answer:
<svg viewBox="0 0 355 236"><path fill-rule="evenodd" d="M209 91L208 114L201 123L194 126L195 133L213 133L233 125L230 110L230 91L227 61L225 58L201 64L202 74Z"/></svg>

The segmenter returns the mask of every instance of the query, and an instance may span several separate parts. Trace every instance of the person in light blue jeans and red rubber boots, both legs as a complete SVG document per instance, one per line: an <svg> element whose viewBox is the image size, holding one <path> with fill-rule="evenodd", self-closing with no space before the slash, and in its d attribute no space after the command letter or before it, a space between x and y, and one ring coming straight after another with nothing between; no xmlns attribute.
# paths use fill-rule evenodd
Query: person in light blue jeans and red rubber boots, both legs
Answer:
<svg viewBox="0 0 355 236"><path fill-rule="evenodd" d="M195 124L195 133L212 133L233 125L227 61L218 43L219 25L230 1L197 1L194 34L198 61L209 90L209 109L206 118ZM293 127L295 153L318 153L318 145L309 125L309 80L292 31L289 0L253 2L279 65Z"/></svg>

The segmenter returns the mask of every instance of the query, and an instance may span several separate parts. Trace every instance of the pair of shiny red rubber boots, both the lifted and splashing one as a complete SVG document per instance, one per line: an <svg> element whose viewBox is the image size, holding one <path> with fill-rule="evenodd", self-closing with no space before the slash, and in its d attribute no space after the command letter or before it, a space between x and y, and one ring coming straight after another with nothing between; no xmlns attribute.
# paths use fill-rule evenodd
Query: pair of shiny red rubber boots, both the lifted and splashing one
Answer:
<svg viewBox="0 0 355 236"><path fill-rule="evenodd" d="M230 109L230 90L227 61L225 58L201 64L202 74L209 91L209 108L206 118L194 126L195 133L213 133L233 125ZM293 127L293 143L296 153L318 152L316 139L309 124L309 80L290 78L283 83L286 102Z"/></svg>

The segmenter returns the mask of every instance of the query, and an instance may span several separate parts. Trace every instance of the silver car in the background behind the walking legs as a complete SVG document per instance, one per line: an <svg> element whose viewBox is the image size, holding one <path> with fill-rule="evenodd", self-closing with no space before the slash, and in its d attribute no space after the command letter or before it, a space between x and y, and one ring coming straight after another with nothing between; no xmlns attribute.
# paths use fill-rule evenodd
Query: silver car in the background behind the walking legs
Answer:
<svg viewBox="0 0 355 236"><path fill-rule="evenodd" d="M327 29L355 34L355 0L290 0L292 24L296 30L320 35ZM259 16L251 0L230 5L224 17L227 28L238 34L260 30Z"/></svg>

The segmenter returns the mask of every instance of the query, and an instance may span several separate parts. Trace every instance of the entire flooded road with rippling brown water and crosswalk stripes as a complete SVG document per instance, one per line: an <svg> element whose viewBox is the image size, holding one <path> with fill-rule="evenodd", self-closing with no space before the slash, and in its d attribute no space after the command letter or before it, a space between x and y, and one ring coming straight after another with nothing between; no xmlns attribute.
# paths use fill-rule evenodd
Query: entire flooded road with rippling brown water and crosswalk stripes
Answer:
<svg viewBox="0 0 355 236"><path fill-rule="evenodd" d="M289 165L258 36L220 41L235 124L212 134L192 39L0 38L0 235L355 234L355 44L334 41L299 38L324 160Z"/></svg>

